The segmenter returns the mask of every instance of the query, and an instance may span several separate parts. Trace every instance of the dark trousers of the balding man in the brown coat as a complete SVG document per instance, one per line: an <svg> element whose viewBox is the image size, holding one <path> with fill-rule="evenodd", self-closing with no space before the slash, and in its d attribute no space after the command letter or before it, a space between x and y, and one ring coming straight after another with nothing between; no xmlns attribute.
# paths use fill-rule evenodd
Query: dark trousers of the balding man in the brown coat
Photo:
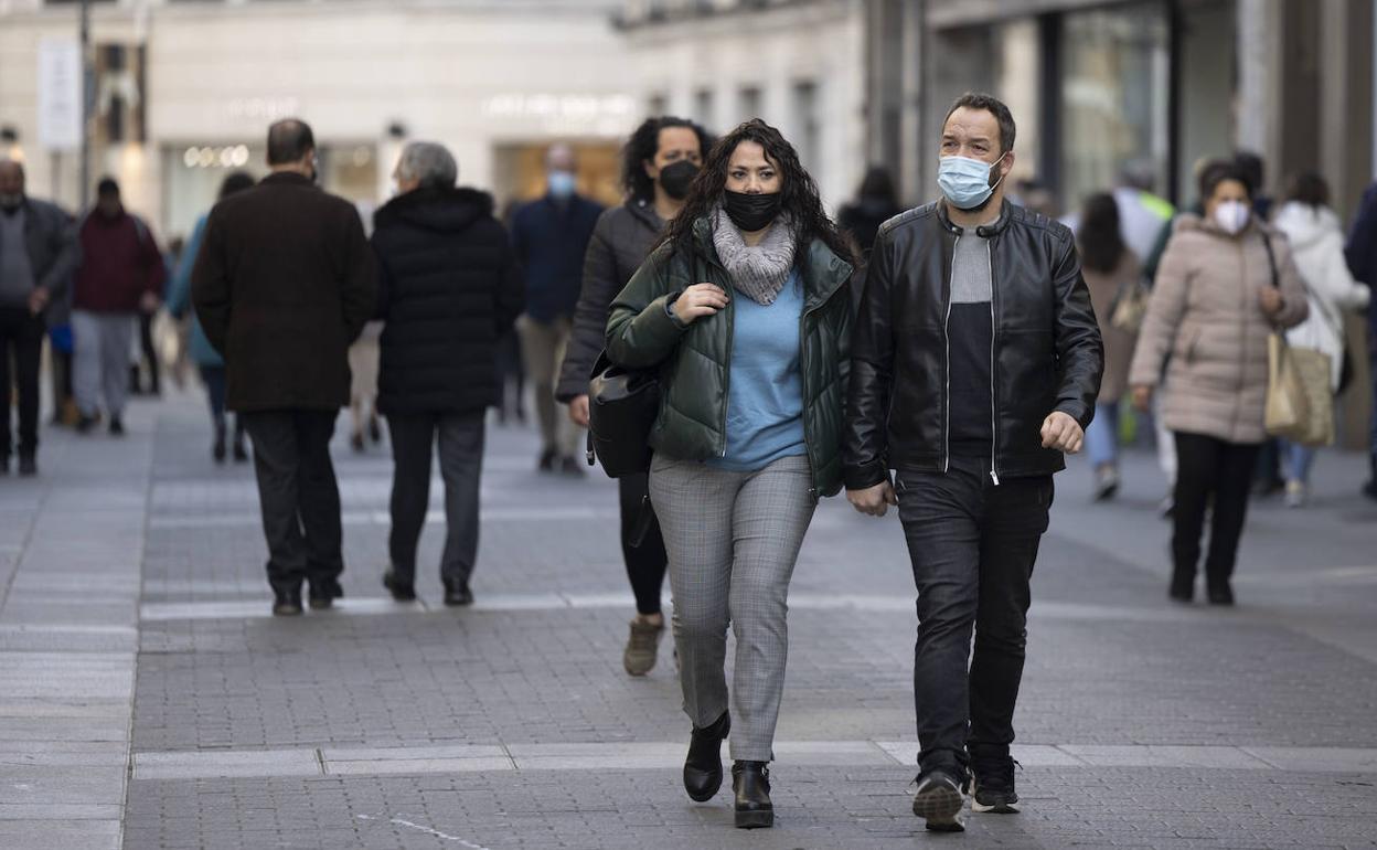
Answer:
<svg viewBox="0 0 1377 850"><path fill-rule="evenodd" d="M337 411L240 413L253 441L267 580L292 592L303 580L328 590L344 572L340 490L330 462Z"/></svg>

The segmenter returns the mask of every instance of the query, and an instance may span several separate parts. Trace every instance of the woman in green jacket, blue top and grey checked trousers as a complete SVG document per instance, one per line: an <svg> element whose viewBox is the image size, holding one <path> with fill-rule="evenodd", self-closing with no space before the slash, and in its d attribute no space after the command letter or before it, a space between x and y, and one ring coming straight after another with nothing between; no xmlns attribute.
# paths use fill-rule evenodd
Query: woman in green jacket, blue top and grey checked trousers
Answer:
<svg viewBox="0 0 1377 850"><path fill-rule="evenodd" d="M650 497L693 721L684 789L717 792L730 734L742 828L774 824L789 579L818 496L841 489L850 255L793 146L756 118L713 147L607 322L611 360L661 382Z"/></svg>

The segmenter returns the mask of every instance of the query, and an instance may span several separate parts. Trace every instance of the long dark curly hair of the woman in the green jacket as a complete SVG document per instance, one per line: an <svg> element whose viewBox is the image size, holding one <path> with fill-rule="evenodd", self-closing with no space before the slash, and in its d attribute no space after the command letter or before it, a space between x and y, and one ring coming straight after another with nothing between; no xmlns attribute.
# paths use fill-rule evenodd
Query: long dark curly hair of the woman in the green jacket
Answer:
<svg viewBox="0 0 1377 850"><path fill-rule="evenodd" d="M799 249L795 256L803 258L808 242L822 240L833 253L855 265L855 253L850 241L841 236L836 223L828 218L818 197L818 185L799 161L799 153L784 135L760 118L741 124L713 146L702 163L702 169L694 178L684 208L679 211L660 244L673 245L675 251L693 249L693 230L698 219L706 218L722 205L727 190L727 165L731 154L742 142L755 142L766 150L766 158L779 169L782 208L781 215L795 220L799 227Z"/></svg>

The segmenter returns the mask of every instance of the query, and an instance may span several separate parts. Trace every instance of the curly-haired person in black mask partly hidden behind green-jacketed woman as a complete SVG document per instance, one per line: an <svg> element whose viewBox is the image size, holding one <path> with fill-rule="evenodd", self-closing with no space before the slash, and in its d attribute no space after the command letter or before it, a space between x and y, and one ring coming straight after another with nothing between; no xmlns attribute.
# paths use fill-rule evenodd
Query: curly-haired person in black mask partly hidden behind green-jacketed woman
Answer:
<svg viewBox="0 0 1377 850"><path fill-rule="evenodd" d="M646 260L660 240L665 222L683 209L688 187L702 167L712 138L693 121L673 117L647 118L622 150L621 180L627 203L602 214L584 258L584 288L574 313L574 332L560 369L556 398L569 405L574 424L588 427L588 377L607 338L611 299ZM622 652L622 667L643 676L655 667L665 619L660 597L665 584L665 541L660 524L647 517L647 477L624 475L621 492L621 554L636 595L636 617ZM646 529L638 540L638 533Z"/></svg>

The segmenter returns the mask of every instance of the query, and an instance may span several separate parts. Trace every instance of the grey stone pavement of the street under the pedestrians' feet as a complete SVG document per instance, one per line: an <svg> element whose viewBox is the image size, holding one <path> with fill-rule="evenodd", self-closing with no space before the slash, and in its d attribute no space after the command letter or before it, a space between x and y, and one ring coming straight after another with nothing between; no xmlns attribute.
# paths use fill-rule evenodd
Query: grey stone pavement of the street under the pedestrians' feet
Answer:
<svg viewBox="0 0 1377 850"><path fill-rule="evenodd" d="M209 460L196 393L121 442L48 433L0 479L0 847L1373 847L1377 506L1329 453L1305 511L1257 504L1237 610L1165 599L1164 488L1075 464L1038 572L1019 707L1024 813L936 836L909 813L912 577L898 522L822 506L790 595L778 825L679 784L669 641L621 671L616 489L533 471L490 431L478 603L386 598L390 462L336 445L335 612L269 614L246 467ZM341 417L341 430L343 430ZM439 486L432 492L438 511ZM434 517L441 519L437 512Z"/></svg>

